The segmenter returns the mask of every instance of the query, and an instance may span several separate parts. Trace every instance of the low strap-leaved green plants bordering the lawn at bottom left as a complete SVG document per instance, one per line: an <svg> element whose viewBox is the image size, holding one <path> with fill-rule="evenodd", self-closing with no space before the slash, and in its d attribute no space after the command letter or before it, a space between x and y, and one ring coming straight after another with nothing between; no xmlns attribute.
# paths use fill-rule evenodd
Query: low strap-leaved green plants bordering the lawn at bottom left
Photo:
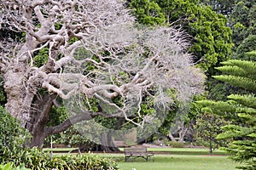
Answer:
<svg viewBox="0 0 256 170"><path fill-rule="evenodd" d="M7 153L7 152L5 152ZM12 162L18 166L20 163L31 169L102 169L118 170L115 161L110 158L94 156L90 154L74 156L51 156L49 152L44 152L38 148L11 152L9 158L5 156L4 162ZM1 169L0 169L1 170Z"/></svg>

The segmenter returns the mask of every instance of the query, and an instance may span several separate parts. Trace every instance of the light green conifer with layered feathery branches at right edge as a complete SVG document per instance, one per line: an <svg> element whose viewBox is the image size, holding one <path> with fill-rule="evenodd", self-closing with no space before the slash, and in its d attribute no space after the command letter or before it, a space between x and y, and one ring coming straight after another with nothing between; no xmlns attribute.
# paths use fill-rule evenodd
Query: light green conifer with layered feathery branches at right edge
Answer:
<svg viewBox="0 0 256 170"><path fill-rule="evenodd" d="M245 88L249 93L231 94L230 100L225 102L205 100L200 103L232 121L223 127L224 133L217 139L232 139L224 150L233 160L243 163L244 166L237 168L253 170L256 169L256 62L233 59L222 64L224 66L217 69L224 75L215 78Z"/></svg>

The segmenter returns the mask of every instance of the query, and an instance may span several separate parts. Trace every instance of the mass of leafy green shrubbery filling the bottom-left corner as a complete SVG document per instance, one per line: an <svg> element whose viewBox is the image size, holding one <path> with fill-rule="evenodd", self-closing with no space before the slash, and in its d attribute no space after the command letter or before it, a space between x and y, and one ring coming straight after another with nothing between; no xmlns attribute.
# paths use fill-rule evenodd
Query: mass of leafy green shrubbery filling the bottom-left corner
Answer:
<svg viewBox="0 0 256 170"><path fill-rule="evenodd" d="M38 148L27 148L26 130L20 127L20 122L10 116L0 106L0 163L7 163L0 170L31 169L119 169L117 164L100 156L51 156ZM9 163L11 162L11 163ZM21 166L20 166L21 164ZM14 167L18 166L18 167ZM26 167L26 168L25 168Z"/></svg>

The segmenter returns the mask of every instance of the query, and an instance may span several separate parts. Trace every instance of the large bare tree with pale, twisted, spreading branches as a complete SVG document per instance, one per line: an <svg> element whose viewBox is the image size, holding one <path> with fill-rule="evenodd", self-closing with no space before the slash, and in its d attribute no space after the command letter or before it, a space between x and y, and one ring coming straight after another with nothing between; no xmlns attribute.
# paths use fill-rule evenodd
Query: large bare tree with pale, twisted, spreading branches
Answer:
<svg viewBox="0 0 256 170"><path fill-rule="evenodd" d="M19 40L1 38L0 66L6 109L32 133L32 146L99 115L133 122L129 114L135 107L132 114L142 122L133 123L143 126L150 121L140 114L143 96L154 96L155 105L167 108L173 103L167 89L185 99L203 80L185 51L189 43L183 31L138 28L118 0L1 0L0 24L2 31L25 34ZM47 59L36 65L42 49ZM82 95L114 109L109 114L83 108L58 126L46 126L57 97L79 105ZM111 102L116 97L122 105Z"/></svg>

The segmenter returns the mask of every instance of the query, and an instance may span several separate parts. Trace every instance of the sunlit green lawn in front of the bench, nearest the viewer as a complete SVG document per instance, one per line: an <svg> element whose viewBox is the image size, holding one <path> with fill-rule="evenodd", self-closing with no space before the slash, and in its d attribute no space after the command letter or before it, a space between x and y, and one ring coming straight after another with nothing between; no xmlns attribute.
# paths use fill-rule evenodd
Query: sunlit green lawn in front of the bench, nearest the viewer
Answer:
<svg viewBox="0 0 256 170"><path fill-rule="evenodd" d="M227 156L157 155L154 161L119 161L122 170L235 170L237 165Z"/></svg>

